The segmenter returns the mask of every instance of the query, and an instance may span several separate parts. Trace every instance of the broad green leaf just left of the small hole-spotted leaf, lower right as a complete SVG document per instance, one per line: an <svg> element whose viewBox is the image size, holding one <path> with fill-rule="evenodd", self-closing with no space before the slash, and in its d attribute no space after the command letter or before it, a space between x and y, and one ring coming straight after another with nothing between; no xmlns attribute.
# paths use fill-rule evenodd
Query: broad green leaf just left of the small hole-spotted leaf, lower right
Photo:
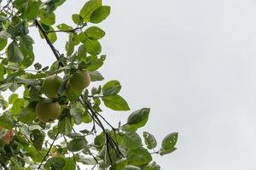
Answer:
<svg viewBox="0 0 256 170"><path fill-rule="evenodd" d="M137 133L123 133L121 136L127 150L134 150L143 146L142 139Z"/></svg>

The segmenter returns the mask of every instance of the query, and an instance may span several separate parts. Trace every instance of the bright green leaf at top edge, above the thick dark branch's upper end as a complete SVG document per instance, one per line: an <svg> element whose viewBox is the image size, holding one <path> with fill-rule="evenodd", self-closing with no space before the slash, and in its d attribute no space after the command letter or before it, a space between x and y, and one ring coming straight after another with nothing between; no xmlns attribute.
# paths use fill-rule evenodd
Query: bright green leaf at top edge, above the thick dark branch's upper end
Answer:
<svg viewBox="0 0 256 170"><path fill-rule="evenodd" d="M40 8L40 1L38 0L28 0L28 3L26 5L26 9L23 12L25 18L27 20L34 20L38 13Z"/></svg>

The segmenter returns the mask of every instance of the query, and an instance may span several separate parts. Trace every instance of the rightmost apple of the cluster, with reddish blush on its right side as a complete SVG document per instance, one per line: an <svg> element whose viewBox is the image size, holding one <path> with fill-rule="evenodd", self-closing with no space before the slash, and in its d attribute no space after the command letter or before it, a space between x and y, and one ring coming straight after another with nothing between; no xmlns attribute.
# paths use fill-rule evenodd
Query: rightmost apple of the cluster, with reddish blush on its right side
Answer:
<svg viewBox="0 0 256 170"><path fill-rule="evenodd" d="M70 78L70 86L74 90L81 91L90 85L90 74L87 71L78 71Z"/></svg>

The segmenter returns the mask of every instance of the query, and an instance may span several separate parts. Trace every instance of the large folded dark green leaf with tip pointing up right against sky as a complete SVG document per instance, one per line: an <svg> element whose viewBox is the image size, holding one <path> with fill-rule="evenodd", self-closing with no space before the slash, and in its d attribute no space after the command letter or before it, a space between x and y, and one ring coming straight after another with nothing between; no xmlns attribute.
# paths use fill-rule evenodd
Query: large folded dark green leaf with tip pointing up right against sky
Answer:
<svg viewBox="0 0 256 170"><path fill-rule="evenodd" d="M143 108L131 113L123 129L135 132L137 128L143 127L148 122L149 111L149 108Z"/></svg>

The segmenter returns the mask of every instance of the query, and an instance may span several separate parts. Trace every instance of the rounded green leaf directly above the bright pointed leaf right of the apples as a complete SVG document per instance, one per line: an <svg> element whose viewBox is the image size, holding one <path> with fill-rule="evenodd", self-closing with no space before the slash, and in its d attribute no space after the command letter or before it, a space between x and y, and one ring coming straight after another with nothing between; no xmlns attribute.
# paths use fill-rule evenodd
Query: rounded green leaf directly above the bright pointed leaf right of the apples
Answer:
<svg viewBox="0 0 256 170"><path fill-rule="evenodd" d="M113 80L104 84L102 87L102 93L104 96L118 94L121 88L120 82Z"/></svg>

